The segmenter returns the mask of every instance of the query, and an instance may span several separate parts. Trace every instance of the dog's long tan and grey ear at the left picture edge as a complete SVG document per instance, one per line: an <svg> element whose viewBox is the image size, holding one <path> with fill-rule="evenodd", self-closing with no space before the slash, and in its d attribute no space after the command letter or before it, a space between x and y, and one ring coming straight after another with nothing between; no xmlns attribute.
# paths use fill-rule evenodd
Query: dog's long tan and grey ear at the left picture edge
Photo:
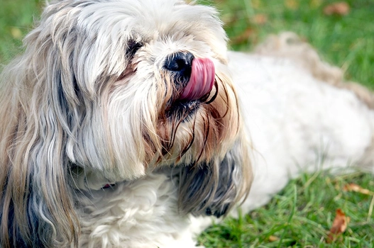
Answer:
<svg viewBox="0 0 374 248"><path fill-rule="evenodd" d="M77 245L61 67L49 45L27 39L25 54L1 75L0 247Z"/></svg>

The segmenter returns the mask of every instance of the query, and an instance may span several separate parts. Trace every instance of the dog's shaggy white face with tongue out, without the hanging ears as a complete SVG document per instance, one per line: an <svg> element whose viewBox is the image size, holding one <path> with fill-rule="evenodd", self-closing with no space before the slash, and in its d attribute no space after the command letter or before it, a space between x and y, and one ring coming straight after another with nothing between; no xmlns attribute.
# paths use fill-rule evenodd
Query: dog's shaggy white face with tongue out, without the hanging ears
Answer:
<svg viewBox="0 0 374 248"><path fill-rule="evenodd" d="M62 6L66 13L55 14ZM28 38L57 43L47 52L61 57L57 90L75 119L63 120L74 164L123 181L165 164L223 158L236 140L238 106L221 72L226 36L213 9L181 1L68 1L53 8L40 26L53 35Z"/></svg>

